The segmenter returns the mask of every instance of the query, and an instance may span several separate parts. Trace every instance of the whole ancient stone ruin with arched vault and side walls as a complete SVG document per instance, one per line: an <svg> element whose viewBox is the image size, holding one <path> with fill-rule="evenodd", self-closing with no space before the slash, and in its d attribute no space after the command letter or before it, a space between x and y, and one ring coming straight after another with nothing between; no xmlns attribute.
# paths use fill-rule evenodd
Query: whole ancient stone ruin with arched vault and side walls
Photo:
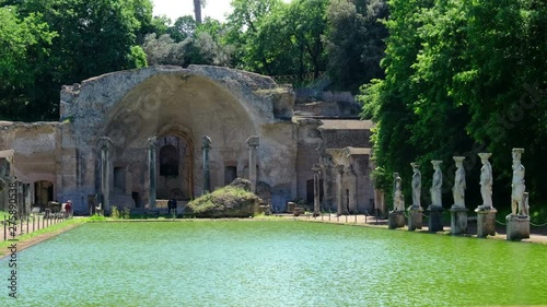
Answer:
<svg viewBox="0 0 547 307"><path fill-rule="evenodd" d="M62 86L59 121L0 122L0 177L26 185L25 210L72 200L85 214L98 203L185 201L237 177L282 211L290 200L314 203L317 174L322 210L372 212L372 123L331 106L295 106L290 85L226 68L108 73Z"/></svg>

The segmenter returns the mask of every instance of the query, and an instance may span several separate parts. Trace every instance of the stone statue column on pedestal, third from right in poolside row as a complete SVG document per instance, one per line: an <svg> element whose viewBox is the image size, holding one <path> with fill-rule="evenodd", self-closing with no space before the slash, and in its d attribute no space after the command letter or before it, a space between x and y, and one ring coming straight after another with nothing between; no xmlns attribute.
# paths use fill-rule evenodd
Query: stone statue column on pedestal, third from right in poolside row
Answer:
<svg viewBox="0 0 547 307"><path fill-rule="evenodd" d="M465 156L453 156L456 163L456 173L454 176L454 187L452 194L454 204L450 209L451 213L451 233L453 235L467 233L467 209L465 208Z"/></svg>

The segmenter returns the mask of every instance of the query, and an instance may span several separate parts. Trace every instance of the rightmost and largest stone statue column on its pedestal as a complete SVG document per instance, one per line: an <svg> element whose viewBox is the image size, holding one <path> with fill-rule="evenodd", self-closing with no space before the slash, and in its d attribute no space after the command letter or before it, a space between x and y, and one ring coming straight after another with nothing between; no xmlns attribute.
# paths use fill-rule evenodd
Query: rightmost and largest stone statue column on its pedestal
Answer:
<svg viewBox="0 0 547 307"><path fill-rule="evenodd" d="M511 184L511 214L508 222L508 240L529 238L528 193L524 186L524 166L521 163L524 149L513 149L513 179Z"/></svg>

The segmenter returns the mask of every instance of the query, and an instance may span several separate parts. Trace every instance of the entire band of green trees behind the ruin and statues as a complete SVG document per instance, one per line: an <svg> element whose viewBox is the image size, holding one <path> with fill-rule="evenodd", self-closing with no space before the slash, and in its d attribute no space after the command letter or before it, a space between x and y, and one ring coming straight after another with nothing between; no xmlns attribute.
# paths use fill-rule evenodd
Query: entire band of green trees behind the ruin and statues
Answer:
<svg viewBox="0 0 547 307"><path fill-rule="evenodd" d="M147 64L225 66L301 81L326 71L336 90L364 84L359 99L376 122L379 186L389 189L394 172L410 178L417 161L428 187L429 161L442 160L450 202L452 156L467 156L475 176L476 154L490 151L500 201L510 191L511 149L521 146L531 199L547 200L544 0L231 5L225 22L172 23L152 16L151 0L0 0L0 119L57 120L61 84ZM468 187L473 201L477 189Z"/></svg>

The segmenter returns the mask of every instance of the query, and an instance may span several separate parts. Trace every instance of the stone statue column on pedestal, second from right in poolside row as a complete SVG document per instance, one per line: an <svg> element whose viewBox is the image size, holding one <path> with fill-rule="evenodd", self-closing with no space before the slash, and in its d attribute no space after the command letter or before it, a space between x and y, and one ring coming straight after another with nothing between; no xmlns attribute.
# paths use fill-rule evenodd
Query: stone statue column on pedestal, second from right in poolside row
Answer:
<svg viewBox="0 0 547 307"><path fill-rule="evenodd" d="M482 204L475 209L477 212L477 237L486 238L487 236L496 235L496 212L492 204L492 166L488 158L491 153L479 153L482 167L480 168L480 194Z"/></svg>

